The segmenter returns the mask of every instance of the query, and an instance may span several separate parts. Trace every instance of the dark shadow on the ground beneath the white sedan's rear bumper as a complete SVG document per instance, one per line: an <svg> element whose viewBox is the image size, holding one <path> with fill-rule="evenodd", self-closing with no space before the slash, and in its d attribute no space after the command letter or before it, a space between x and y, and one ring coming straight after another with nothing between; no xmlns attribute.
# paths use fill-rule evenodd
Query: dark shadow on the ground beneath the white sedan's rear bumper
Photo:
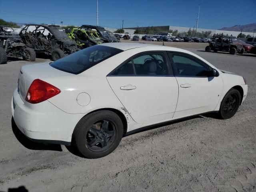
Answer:
<svg viewBox="0 0 256 192"><path fill-rule="evenodd" d="M14 119L12 117L11 120L12 124L12 132L14 133L17 140L22 144L24 147L30 150L51 150L51 151L62 151L62 148L60 145L57 144L42 144L37 143L29 140L17 127L16 123L14 122Z"/></svg>

